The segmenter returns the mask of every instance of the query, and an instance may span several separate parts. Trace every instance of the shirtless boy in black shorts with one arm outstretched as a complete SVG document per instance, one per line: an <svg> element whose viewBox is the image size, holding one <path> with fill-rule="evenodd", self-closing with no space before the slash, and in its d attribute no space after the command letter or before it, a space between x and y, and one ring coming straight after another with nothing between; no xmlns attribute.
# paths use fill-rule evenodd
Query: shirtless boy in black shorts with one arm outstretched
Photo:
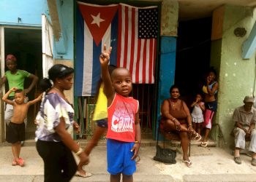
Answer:
<svg viewBox="0 0 256 182"><path fill-rule="evenodd" d="M15 92L14 100L9 100L8 96L11 92ZM37 103L42 99L42 94L36 99L24 103L25 92L23 90L18 90L16 87L12 87L2 98L4 102L13 106L13 115L10 124L7 125L6 140L12 143L12 154L13 161L12 165L24 166L25 161L20 158L20 148L21 141L25 140L25 123L24 119L28 113L29 106Z"/></svg>

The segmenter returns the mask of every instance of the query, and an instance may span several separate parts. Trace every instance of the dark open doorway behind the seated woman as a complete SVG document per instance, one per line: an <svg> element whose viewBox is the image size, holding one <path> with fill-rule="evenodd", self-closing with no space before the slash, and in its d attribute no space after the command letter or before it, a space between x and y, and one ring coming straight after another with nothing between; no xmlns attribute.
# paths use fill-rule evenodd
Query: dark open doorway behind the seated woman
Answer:
<svg viewBox="0 0 256 182"><path fill-rule="evenodd" d="M175 83L189 106L201 92L211 59L211 17L178 23Z"/></svg>

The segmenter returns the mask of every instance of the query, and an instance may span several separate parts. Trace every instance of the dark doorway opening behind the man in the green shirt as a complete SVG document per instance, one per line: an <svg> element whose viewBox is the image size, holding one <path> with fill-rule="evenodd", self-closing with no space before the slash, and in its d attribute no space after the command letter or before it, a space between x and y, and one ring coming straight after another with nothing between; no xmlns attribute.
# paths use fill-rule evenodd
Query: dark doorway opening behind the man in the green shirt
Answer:
<svg viewBox="0 0 256 182"><path fill-rule="evenodd" d="M6 55L15 55L17 68L28 71L42 79L42 31L40 29L4 28L4 58ZM7 68L5 68L7 71ZM24 88L29 87L30 79L26 79ZM6 91L9 89L6 84ZM29 100L39 94L37 85L29 92ZM36 125L34 118L37 114L39 103L30 106L28 124L26 127L26 140L34 139Z"/></svg>

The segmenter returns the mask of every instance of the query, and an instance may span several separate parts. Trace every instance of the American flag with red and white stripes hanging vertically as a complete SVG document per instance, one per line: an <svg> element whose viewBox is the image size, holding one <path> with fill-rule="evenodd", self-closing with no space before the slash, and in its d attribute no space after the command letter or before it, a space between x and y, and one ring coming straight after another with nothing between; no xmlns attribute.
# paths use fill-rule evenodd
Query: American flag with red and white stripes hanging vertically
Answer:
<svg viewBox="0 0 256 182"><path fill-rule="evenodd" d="M133 83L154 83L157 30L157 7L119 4L117 66L129 69Z"/></svg>

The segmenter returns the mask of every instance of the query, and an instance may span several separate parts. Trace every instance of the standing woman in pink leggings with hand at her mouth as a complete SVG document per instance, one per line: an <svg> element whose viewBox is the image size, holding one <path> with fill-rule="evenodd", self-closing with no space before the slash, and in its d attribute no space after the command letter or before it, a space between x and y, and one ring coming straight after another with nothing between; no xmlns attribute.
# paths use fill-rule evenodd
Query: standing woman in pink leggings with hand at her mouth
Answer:
<svg viewBox="0 0 256 182"><path fill-rule="evenodd" d="M217 111L217 92L219 88L218 82L215 81L217 72L214 67L211 67L208 71L206 78L206 84L203 86L203 94L206 106L206 119L204 125L206 127L205 136L201 143L201 146L206 147L208 145L208 135L212 126L212 119Z"/></svg>

